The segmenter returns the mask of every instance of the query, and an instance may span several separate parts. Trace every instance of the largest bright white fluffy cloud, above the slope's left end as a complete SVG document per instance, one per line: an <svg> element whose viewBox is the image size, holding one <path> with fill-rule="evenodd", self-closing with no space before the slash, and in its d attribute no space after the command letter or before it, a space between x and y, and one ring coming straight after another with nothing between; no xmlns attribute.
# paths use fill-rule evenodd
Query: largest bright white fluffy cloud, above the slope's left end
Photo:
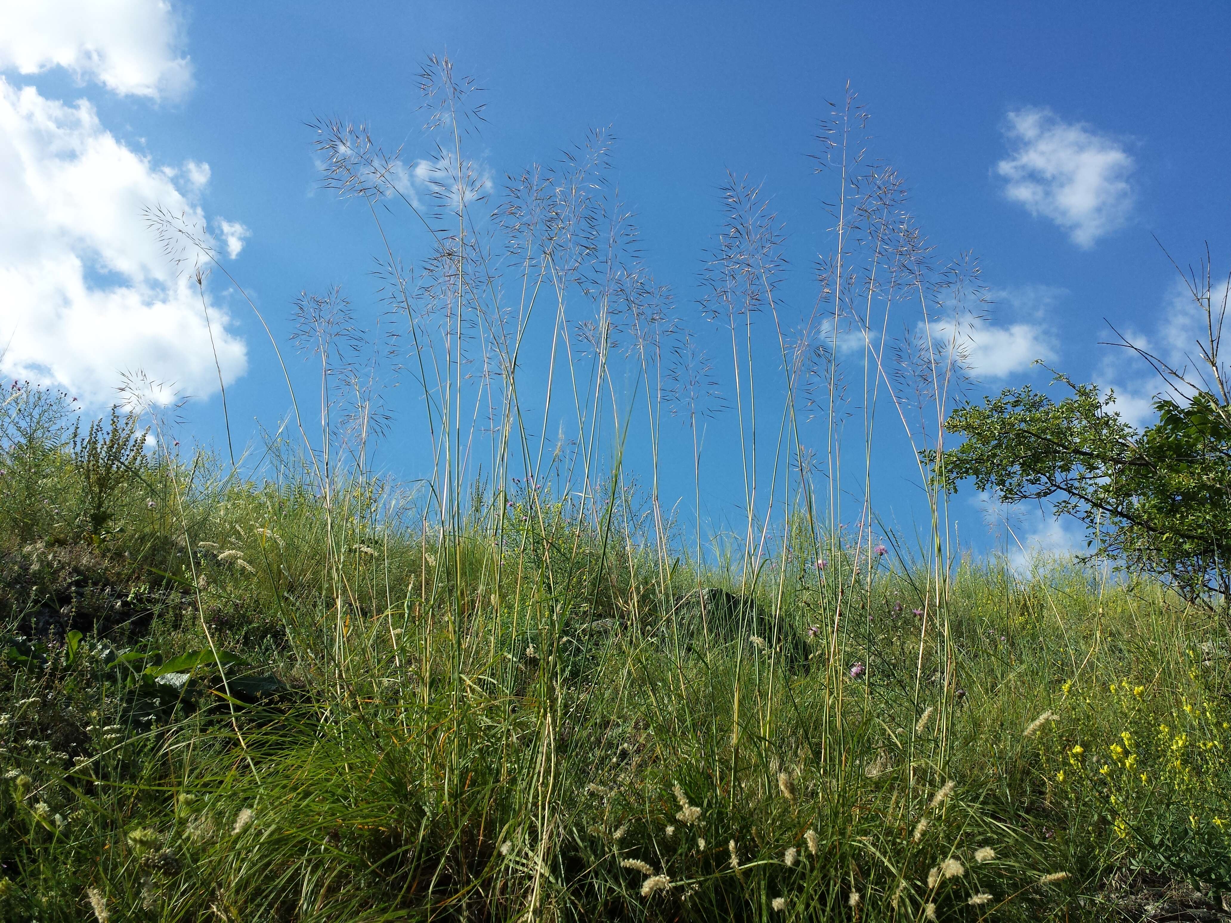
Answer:
<svg viewBox="0 0 1231 923"><path fill-rule="evenodd" d="M169 263L143 217L159 206L204 226L196 194L207 180L203 164L151 164L84 100L68 106L0 78L0 372L96 405L138 369L191 394L215 390L196 283ZM246 229L219 226L238 252ZM246 368L244 342L222 306L211 320L223 375L234 379Z"/></svg>

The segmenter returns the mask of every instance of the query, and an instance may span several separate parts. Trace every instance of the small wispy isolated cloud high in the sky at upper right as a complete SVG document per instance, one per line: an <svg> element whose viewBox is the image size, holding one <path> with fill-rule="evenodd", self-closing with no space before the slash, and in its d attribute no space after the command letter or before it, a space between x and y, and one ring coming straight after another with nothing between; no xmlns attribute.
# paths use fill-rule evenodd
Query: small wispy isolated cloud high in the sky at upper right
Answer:
<svg viewBox="0 0 1231 923"><path fill-rule="evenodd" d="M1050 218L1080 247L1120 228L1133 208L1134 162L1117 140L1049 108L1008 113L1009 156L996 165L1004 194Z"/></svg>

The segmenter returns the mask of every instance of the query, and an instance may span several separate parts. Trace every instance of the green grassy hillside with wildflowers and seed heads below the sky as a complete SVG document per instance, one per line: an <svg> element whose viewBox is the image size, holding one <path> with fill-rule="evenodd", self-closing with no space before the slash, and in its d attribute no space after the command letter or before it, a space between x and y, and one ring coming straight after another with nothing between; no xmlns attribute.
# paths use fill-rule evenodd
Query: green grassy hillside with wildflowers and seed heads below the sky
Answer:
<svg viewBox="0 0 1231 923"><path fill-rule="evenodd" d="M41 420L0 475L9 919L1161 919L1231 887L1226 631L1156 585L938 582L805 528L699 566L619 490L476 489L425 530L371 480Z"/></svg>

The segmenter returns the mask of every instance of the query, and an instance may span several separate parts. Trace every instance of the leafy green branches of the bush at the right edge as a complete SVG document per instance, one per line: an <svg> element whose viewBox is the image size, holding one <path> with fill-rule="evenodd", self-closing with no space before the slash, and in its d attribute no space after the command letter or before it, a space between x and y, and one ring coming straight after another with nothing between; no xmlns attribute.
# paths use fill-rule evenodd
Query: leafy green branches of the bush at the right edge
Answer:
<svg viewBox="0 0 1231 923"><path fill-rule="evenodd" d="M1169 581L1188 599L1231 596L1231 422L1229 407L1199 391L1158 400L1158 422L1139 431L1091 384L1053 401L1029 385L1006 389L949 417L965 436L938 459L944 486L972 479L1001 501L1050 500L1088 530L1096 554L1133 573Z"/></svg>

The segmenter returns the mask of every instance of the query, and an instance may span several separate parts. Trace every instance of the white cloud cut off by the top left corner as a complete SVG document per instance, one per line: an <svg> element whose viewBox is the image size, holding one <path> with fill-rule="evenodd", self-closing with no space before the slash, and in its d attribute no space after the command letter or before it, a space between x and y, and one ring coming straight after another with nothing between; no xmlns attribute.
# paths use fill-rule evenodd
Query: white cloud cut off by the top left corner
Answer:
<svg viewBox="0 0 1231 923"><path fill-rule="evenodd" d="M178 98L192 87L181 23L167 0L0 2L0 70L65 68L119 95Z"/></svg>

